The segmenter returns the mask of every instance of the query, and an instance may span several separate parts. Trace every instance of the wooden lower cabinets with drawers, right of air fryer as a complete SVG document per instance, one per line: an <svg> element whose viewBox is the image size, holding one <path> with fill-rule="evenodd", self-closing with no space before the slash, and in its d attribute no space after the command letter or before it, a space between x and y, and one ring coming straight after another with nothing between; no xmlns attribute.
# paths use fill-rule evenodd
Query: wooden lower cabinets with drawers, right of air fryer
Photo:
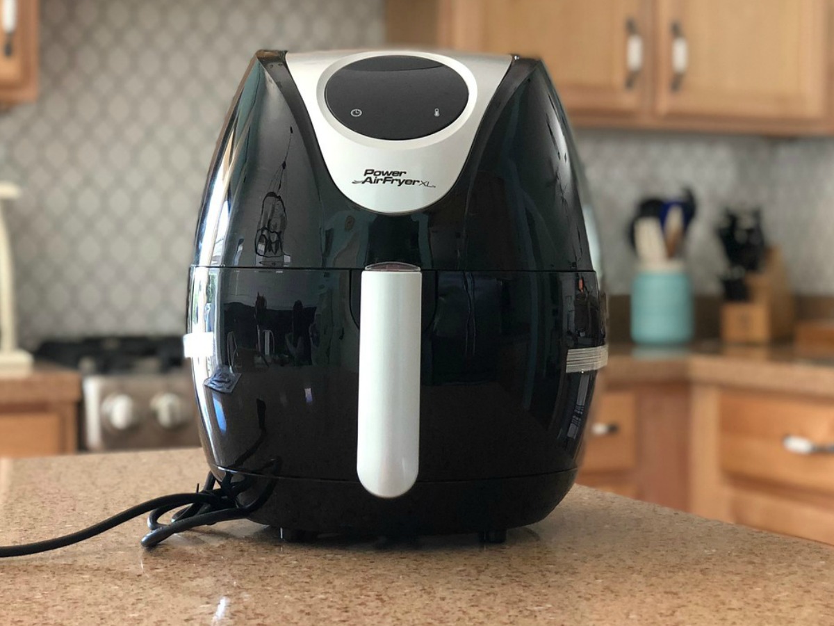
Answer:
<svg viewBox="0 0 834 626"><path fill-rule="evenodd" d="M834 399L682 378L594 402L578 483L834 544ZM791 436L820 450L791 452Z"/></svg>

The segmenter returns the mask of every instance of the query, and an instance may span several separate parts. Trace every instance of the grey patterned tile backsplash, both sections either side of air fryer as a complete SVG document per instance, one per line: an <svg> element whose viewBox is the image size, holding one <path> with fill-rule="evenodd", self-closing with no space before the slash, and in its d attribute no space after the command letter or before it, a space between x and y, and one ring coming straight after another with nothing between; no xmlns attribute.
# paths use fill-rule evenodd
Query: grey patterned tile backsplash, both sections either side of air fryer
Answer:
<svg viewBox="0 0 834 626"><path fill-rule="evenodd" d="M383 40L383 0L42 0L41 95L0 114L20 334L183 331L203 179L259 48ZM696 290L715 293L725 204L761 204L802 293L834 293L834 141L580 131L609 290L628 290L638 199L689 184Z"/></svg>

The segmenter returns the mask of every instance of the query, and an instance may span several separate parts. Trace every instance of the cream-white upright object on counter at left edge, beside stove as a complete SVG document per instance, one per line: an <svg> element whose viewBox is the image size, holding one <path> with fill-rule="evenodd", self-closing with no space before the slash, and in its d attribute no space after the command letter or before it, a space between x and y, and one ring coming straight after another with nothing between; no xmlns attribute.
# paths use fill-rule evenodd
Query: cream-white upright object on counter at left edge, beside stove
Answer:
<svg viewBox="0 0 834 626"><path fill-rule="evenodd" d="M0 183L0 374L26 374L32 369L32 355L18 350L17 321L14 310L14 265L12 245L3 216L3 201L20 197L20 189Z"/></svg>

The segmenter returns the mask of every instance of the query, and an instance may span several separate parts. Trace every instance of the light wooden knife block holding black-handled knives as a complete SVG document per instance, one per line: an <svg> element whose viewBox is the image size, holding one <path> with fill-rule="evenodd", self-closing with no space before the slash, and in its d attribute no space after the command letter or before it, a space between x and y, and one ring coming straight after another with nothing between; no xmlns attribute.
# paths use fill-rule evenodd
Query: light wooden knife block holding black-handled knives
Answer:
<svg viewBox="0 0 834 626"><path fill-rule="evenodd" d="M796 311L781 250L768 248L763 269L747 272L744 280L750 300L721 305L721 340L767 344L790 339Z"/></svg>

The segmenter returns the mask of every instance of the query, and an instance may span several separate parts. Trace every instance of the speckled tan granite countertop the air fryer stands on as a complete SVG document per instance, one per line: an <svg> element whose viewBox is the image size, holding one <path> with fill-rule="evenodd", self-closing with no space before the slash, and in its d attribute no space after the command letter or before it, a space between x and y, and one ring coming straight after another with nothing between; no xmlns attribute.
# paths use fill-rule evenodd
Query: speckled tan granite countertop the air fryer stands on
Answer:
<svg viewBox="0 0 834 626"><path fill-rule="evenodd" d="M67 533L203 477L197 450L0 461L0 544ZM248 521L145 551L138 518L0 561L0 622L834 623L834 548L575 487L507 543L325 538Z"/></svg>

